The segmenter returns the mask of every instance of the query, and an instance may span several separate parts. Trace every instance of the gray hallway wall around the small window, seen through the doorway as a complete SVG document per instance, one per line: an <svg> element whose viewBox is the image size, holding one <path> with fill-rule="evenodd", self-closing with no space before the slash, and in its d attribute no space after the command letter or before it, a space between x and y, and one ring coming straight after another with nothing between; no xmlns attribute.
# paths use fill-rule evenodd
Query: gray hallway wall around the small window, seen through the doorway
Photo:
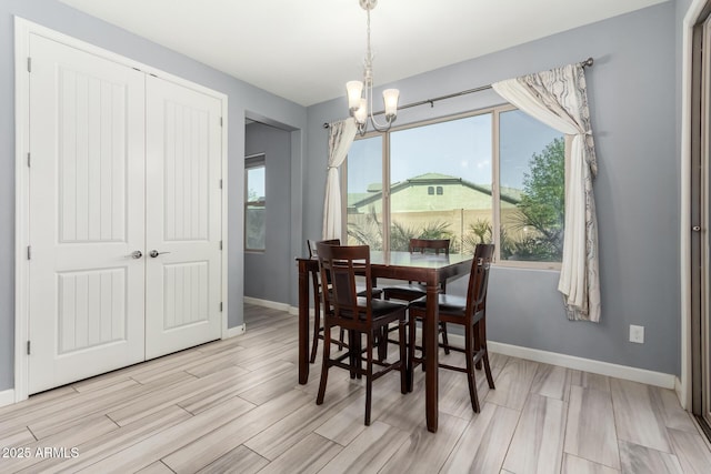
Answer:
<svg viewBox="0 0 711 474"><path fill-rule="evenodd" d="M261 123L247 125L244 155L264 153L267 169L266 250L244 252L244 296L289 303L294 266L287 223L291 209L291 140L289 131ZM263 269L269 269L264 272Z"/></svg>

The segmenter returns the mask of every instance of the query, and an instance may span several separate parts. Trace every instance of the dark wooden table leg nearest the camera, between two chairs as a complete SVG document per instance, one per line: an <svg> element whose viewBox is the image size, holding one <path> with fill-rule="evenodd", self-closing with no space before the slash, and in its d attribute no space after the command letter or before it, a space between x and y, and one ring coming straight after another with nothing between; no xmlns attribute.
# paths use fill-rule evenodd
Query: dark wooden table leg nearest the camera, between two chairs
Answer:
<svg viewBox="0 0 711 474"><path fill-rule="evenodd" d="M427 315L422 323L422 339L424 344L424 385L425 385L425 410L427 428L437 433L439 421L439 305L438 305L439 283L428 282L427 285Z"/></svg>

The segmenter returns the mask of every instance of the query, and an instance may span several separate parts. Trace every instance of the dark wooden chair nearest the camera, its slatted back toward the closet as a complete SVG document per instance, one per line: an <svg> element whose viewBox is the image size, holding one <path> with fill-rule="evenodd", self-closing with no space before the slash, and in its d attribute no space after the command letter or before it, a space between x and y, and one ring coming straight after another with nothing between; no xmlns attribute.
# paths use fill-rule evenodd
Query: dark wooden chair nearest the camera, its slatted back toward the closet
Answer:
<svg viewBox="0 0 711 474"><path fill-rule="evenodd" d="M365 377L365 425L370 425L372 404L372 383L391 371L400 372L400 392L408 393L407 363L407 304L373 297L370 268L370 248L368 245L328 245L317 243L321 281L331 282L331 291L323 291L324 307L333 311L323 313L323 363L317 405L323 403L329 369L346 369L353 376ZM357 276L365 276L364 292L358 291ZM361 295L359 295L361 294ZM380 361L373 357L377 344L387 344L379 337L382 329L397 322L400 335L400 357L395 362ZM348 351L331 359L331 329L341 327L349 332ZM362 347L362 336L365 347ZM363 362L365 367L363 369ZM380 367L377 372L373 366Z"/></svg>

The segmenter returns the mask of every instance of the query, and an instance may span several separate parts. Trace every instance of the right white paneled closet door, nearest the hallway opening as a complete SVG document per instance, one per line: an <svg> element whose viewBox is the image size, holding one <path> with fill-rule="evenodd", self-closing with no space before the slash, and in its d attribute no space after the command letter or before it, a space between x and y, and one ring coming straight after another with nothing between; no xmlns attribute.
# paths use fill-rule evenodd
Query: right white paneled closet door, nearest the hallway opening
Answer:
<svg viewBox="0 0 711 474"><path fill-rule="evenodd" d="M221 335L221 102L148 77L146 357ZM151 256L154 255L154 256Z"/></svg>

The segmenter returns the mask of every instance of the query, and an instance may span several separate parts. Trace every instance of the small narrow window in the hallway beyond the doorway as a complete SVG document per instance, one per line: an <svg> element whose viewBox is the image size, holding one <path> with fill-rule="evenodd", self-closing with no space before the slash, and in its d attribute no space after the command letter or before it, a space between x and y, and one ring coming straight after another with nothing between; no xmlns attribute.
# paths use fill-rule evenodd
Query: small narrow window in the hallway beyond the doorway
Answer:
<svg viewBox="0 0 711 474"><path fill-rule="evenodd" d="M266 249L267 168L264 155L244 160L244 250Z"/></svg>

